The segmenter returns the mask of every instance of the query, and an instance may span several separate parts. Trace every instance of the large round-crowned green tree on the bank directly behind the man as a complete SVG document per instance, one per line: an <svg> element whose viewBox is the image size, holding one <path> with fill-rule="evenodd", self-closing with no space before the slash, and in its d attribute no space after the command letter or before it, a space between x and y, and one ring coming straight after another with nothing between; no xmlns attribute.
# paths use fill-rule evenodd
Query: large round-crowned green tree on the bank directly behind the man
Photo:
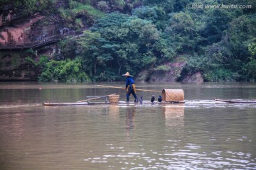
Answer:
<svg viewBox="0 0 256 170"><path fill-rule="evenodd" d="M118 65L117 75L128 69L136 73L136 70L149 68L156 63L154 50L160 39L160 32L151 21L122 13L109 13L98 20L91 30L100 33L102 38L101 48L98 43L94 51L103 50L105 56L112 57L111 62L107 61L105 64L109 67Z"/></svg>

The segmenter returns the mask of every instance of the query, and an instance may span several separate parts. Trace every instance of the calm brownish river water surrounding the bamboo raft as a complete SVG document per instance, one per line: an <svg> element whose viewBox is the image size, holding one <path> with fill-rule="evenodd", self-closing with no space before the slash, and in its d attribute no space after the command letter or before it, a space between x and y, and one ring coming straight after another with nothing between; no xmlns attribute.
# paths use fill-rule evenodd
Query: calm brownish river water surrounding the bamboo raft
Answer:
<svg viewBox="0 0 256 170"><path fill-rule="evenodd" d="M213 101L256 98L255 83L137 88L183 89L186 103L42 106L114 93L125 101L125 91L94 83L0 82L0 169L256 169L255 103ZM138 91L144 100L152 94L159 95Z"/></svg>

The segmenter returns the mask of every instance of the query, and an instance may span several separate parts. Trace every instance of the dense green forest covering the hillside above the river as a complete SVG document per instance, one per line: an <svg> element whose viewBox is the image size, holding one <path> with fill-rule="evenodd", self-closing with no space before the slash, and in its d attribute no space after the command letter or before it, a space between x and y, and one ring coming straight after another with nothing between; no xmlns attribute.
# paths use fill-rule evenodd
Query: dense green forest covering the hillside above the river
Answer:
<svg viewBox="0 0 256 170"><path fill-rule="evenodd" d="M19 0L14 6L21 16L58 16L63 28L81 32L60 40L53 57L36 61L34 50L26 50L40 81L119 81L125 72L161 74L169 62L186 63L179 77L256 79L254 0Z"/></svg>

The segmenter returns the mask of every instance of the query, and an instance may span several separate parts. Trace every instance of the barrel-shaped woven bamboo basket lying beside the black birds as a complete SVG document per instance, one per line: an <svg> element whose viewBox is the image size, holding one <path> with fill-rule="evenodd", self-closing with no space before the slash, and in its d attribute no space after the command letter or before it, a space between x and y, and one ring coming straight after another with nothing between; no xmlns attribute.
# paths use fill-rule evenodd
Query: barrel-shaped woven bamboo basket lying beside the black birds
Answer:
<svg viewBox="0 0 256 170"><path fill-rule="evenodd" d="M183 89L163 89L162 101L184 101Z"/></svg>

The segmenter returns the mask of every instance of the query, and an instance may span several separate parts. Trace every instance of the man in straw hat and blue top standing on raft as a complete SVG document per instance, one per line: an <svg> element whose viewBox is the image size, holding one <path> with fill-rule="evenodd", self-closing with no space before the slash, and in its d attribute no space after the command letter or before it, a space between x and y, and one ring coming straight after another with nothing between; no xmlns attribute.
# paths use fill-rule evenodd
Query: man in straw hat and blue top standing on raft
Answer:
<svg viewBox="0 0 256 170"><path fill-rule="evenodd" d="M132 94L134 96L134 102L138 102L138 98L136 95L136 89L134 84L134 79L132 79L132 76L127 72L126 74L123 74L123 76L126 77L126 83L125 83L125 89L127 90L127 102L129 102L129 96Z"/></svg>

